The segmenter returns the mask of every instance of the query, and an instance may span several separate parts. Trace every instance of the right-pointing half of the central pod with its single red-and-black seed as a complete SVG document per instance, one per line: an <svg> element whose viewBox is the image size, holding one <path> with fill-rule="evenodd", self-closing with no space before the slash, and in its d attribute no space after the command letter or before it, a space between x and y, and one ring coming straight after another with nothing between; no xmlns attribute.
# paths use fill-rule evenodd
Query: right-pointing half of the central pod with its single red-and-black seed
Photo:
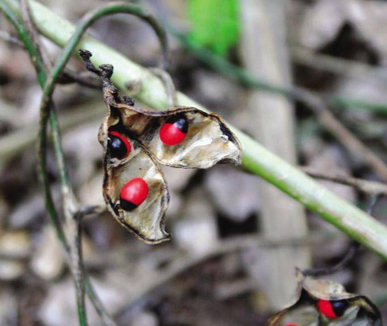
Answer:
<svg viewBox="0 0 387 326"><path fill-rule="evenodd" d="M216 163L240 164L236 137L216 114L192 107L148 111L110 101L119 110L121 128L164 165L209 168Z"/></svg>

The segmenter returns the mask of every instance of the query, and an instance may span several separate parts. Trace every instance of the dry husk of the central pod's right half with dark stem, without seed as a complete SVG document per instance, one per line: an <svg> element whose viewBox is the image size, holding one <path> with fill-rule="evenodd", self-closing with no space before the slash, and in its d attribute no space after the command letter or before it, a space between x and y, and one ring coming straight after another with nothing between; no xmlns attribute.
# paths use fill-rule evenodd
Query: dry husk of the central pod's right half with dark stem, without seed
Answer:
<svg viewBox="0 0 387 326"><path fill-rule="evenodd" d="M147 148L160 164L200 169L216 163L241 164L240 142L220 116L183 106L167 111L138 108L130 97L119 96L110 80L113 72L111 65L101 65L101 71L98 71L89 60L91 53L81 50L81 56L86 68L98 74L103 81L103 98L116 121L116 128ZM176 114L186 117L188 132L180 144L168 146L160 140L159 131L162 124Z"/></svg>

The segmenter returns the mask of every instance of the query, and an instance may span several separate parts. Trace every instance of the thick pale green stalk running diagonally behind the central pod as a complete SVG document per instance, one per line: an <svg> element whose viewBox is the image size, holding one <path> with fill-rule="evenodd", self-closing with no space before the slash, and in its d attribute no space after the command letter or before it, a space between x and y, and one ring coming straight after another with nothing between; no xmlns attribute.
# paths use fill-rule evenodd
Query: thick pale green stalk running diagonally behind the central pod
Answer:
<svg viewBox="0 0 387 326"><path fill-rule="evenodd" d="M13 6L15 13L19 11L15 0L1 1ZM31 1L31 7L40 32L59 46L65 46L75 31L74 26L35 1ZM91 51L95 65L112 64L112 81L120 89L125 90L127 82L141 79L142 89L136 97L157 110L167 107L168 98L163 84L146 69L88 35L81 39L78 48ZM178 103L205 110L181 93L178 94ZM387 228L383 224L270 153L241 131L235 128L233 131L242 143L243 166L246 169L268 180L354 240L387 259Z"/></svg>

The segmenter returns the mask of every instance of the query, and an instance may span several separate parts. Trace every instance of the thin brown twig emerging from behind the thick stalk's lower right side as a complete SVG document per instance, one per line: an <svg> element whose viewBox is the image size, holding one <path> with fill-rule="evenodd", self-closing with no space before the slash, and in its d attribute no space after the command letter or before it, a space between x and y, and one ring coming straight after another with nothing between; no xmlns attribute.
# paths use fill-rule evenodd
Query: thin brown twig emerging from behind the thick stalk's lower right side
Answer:
<svg viewBox="0 0 387 326"><path fill-rule="evenodd" d="M317 179L328 180L328 181L344 184L347 186L351 186L369 195L387 196L387 185L384 183L358 179L358 178L351 177L349 175L321 172L309 166L302 166L300 167L300 169L303 170L306 174L310 175L311 177L314 177Z"/></svg>

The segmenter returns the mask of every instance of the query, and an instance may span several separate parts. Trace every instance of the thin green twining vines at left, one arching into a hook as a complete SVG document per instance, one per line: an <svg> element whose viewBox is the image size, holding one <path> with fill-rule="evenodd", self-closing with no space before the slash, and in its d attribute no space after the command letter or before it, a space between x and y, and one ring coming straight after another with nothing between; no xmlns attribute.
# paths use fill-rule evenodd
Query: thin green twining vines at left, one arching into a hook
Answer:
<svg viewBox="0 0 387 326"><path fill-rule="evenodd" d="M26 3L24 3L26 6ZM56 61L53 69L50 71L48 77L46 78L46 70L45 63L40 54L40 50L36 44L34 44L34 40L29 35L26 30L25 25L19 21L19 18L15 15L15 13L7 6L6 3L0 2L0 9L5 13L8 20L14 25L16 28L20 39L22 40L27 52L30 54L31 61L34 64L34 67L37 72L38 81L43 89L43 96L40 104L40 122L39 122L39 146L38 146L38 172L40 175L41 183L45 193L45 201L46 201L46 209L50 215L50 218L54 224L54 227L57 232L57 236L61 243L63 244L65 251L68 256L69 264L72 267L72 273L74 275L75 287L76 287L76 297L77 297L77 310L78 310L78 318L80 325L87 325L87 317L86 317L86 309L84 302L84 292L86 286L86 292L93 302L94 307L97 312L103 319L104 323L107 325L114 325L114 321L110 318L106 310L103 308L103 305L99 298L97 297L95 291L93 290L91 283L87 277L84 276L85 270L83 266L82 260L82 249L81 249L81 218L86 213L95 212L95 207L92 207L90 211L90 207L79 209L79 204L77 203L71 183L69 180L69 176L67 173L66 162L63 155L63 148L61 144L61 136L57 121L57 116L54 110L54 104L52 102L52 94L55 89L55 85L58 82L59 77L61 76L63 69L70 59L71 53L76 48L77 43L82 37L83 33L86 29L97 19L112 14L118 13L126 13L139 17L140 19L146 21L155 31L158 36L162 52L163 52L163 60L161 63L161 67L165 68L167 66L168 61L168 44L166 33L162 29L162 27L157 23L157 21L147 13L145 13L140 7L127 4L127 3L114 3L108 4L105 6L101 6L86 14L80 21L80 24L73 36L69 40L67 46L63 49L59 59ZM26 8L25 8L26 9ZM30 24L30 28L32 28ZM65 207L65 217L66 221L72 228L71 234L72 243L69 244L66 234L63 230L62 223L59 218L59 214L55 208L55 205L52 200L52 194L50 185L48 182L48 173L47 173L47 163L46 163L46 151L47 151L47 123L50 118L50 125L53 134L54 140L54 152L57 160L57 166L60 175L60 182L62 188L62 196ZM97 208L99 209L99 207ZM75 249L75 250L74 250Z"/></svg>

